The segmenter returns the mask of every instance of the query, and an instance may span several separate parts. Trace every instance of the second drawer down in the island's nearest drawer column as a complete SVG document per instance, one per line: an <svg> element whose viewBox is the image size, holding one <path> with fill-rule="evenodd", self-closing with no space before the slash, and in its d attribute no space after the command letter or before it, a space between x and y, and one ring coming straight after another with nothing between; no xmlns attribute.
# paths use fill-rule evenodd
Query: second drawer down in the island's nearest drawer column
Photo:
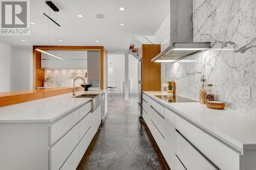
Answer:
<svg viewBox="0 0 256 170"><path fill-rule="evenodd" d="M59 169L79 142L79 126L76 125L49 150L50 170Z"/></svg>

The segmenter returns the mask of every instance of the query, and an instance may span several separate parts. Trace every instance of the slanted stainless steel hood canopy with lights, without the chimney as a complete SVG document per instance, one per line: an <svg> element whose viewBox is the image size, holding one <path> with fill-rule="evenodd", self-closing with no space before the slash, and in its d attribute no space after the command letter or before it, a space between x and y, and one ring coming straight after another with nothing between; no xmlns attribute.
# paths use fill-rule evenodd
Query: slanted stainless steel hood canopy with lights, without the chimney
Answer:
<svg viewBox="0 0 256 170"><path fill-rule="evenodd" d="M176 62L191 55L209 50L210 42L174 42L159 53L152 62Z"/></svg>

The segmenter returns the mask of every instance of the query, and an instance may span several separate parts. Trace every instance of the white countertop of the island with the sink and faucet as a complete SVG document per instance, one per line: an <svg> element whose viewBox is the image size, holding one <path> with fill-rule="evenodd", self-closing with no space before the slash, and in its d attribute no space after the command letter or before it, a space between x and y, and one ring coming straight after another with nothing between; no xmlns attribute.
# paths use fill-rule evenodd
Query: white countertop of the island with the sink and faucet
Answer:
<svg viewBox="0 0 256 170"><path fill-rule="evenodd" d="M106 90L76 91L80 94L101 94ZM72 93L0 107L0 123L51 123L72 112L92 98L74 98Z"/></svg>

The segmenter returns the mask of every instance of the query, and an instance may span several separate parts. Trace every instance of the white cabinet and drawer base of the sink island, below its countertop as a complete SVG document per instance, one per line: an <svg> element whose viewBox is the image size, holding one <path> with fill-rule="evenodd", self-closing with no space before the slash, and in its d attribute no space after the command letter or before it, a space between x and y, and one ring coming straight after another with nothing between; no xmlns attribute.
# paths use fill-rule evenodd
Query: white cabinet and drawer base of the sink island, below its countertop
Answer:
<svg viewBox="0 0 256 170"><path fill-rule="evenodd" d="M101 107L92 113L89 100L50 123L41 121L0 124L0 169L76 169L100 126Z"/></svg>

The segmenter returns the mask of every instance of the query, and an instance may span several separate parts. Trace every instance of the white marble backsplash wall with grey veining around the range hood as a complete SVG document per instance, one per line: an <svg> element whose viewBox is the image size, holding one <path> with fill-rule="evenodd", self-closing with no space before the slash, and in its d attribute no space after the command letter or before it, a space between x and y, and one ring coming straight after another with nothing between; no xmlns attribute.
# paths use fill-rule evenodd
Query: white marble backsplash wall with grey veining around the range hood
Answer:
<svg viewBox="0 0 256 170"><path fill-rule="evenodd" d="M214 84L218 101L256 115L256 1L196 0L194 5L194 42L211 42L213 49L187 58L194 62L162 63L162 83L174 80L178 95L199 100L204 76ZM251 87L251 100L238 98L239 86Z"/></svg>

